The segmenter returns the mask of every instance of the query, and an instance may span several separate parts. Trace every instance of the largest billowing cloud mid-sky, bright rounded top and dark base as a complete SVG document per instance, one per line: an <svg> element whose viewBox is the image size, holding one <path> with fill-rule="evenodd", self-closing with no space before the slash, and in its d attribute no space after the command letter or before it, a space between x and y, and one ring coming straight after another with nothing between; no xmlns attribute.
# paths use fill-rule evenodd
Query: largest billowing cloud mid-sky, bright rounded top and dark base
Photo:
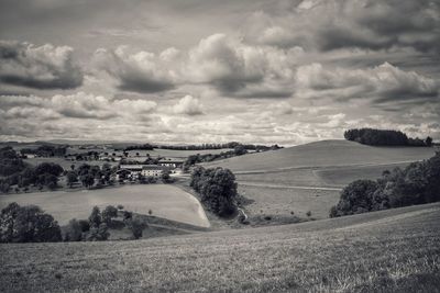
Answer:
<svg viewBox="0 0 440 293"><path fill-rule="evenodd" d="M193 82L208 83L220 92L246 98L292 94L292 64L298 48L249 46L224 34L204 38L188 53L185 74Z"/></svg>

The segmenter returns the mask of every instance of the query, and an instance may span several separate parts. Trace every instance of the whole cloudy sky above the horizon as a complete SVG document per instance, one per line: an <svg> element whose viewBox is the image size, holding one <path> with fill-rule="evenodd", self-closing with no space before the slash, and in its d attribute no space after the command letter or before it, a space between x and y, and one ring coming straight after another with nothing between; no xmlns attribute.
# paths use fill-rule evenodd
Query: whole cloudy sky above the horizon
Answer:
<svg viewBox="0 0 440 293"><path fill-rule="evenodd" d="M440 140L440 0L0 0L0 140Z"/></svg>

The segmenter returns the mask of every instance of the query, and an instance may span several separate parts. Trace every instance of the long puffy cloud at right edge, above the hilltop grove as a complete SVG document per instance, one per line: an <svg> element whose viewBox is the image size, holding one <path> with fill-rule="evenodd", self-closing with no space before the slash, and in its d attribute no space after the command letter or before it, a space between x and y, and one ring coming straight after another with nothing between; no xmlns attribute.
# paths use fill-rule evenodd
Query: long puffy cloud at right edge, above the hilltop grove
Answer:
<svg viewBox="0 0 440 293"><path fill-rule="evenodd" d="M388 63L366 69L324 68L321 64L300 66L296 86L323 92L340 100L373 98L376 103L437 99L440 83L415 71L404 71Z"/></svg>

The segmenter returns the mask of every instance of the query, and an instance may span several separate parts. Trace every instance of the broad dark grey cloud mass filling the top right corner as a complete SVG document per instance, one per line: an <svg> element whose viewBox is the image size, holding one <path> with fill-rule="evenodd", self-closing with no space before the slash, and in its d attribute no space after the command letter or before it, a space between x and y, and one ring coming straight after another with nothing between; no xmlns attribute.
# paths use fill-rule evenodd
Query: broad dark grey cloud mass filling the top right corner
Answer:
<svg viewBox="0 0 440 293"><path fill-rule="evenodd" d="M440 53L440 3L413 0L304 0L282 11L257 12L246 38L307 49L411 47Z"/></svg>

